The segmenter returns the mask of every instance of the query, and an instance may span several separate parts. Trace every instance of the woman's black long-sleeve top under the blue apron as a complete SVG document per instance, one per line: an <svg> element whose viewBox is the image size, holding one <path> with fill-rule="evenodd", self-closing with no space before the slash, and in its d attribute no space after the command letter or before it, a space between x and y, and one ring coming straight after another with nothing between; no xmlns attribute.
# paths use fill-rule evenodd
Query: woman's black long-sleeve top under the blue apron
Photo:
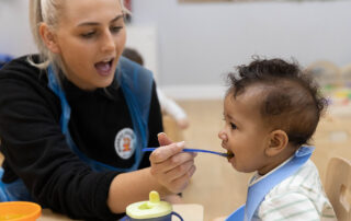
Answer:
<svg viewBox="0 0 351 221"><path fill-rule="evenodd" d="M0 70L0 150L5 156L2 181L21 178L36 202L75 219L121 217L106 205L111 182L118 173L93 172L70 150L60 130L60 102L47 86L46 71L26 59L15 59ZM123 92L114 83L106 93L103 89L82 91L63 81L71 107L69 129L87 156L129 167L134 155L124 160L115 151L116 135L133 124ZM158 147L162 120L155 82L151 93L149 147ZM144 155L140 167L149 166L148 158Z"/></svg>

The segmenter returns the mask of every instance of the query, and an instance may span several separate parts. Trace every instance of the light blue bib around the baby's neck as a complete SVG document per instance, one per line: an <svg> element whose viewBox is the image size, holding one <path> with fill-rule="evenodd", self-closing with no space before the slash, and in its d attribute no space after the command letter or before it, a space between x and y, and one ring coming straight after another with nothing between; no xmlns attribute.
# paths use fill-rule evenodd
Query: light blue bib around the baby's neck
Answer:
<svg viewBox="0 0 351 221"><path fill-rule="evenodd" d="M313 147L301 147L287 163L251 185L248 189L246 205L233 212L226 221L251 221L254 211L259 208L265 195L269 194L274 186L297 172L310 158L314 149Z"/></svg>

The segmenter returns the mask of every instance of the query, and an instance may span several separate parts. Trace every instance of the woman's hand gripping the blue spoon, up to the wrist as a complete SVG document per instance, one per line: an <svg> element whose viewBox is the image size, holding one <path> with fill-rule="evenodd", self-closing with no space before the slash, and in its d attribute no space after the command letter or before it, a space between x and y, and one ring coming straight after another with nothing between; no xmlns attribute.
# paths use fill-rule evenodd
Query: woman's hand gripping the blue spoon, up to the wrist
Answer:
<svg viewBox="0 0 351 221"><path fill-rule="evenodd" d="M158 135L158 141L161 147L150 155L150 172L169 191L181 193L196 170L194 165L196 153L182 152L184 142L173 143L162 132Z"/></svg>

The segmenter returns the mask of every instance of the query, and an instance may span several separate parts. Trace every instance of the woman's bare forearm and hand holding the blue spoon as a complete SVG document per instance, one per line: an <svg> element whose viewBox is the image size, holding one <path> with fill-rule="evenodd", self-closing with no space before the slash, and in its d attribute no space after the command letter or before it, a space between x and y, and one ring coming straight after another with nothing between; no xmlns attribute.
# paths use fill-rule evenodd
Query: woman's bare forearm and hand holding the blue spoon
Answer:
<svg viewBox="0 0 351 221"><path fill-rule="evenodd" d="M172 143L165 133L158 136L160 148L150 155L151 166L121 173L111 183L107 205L112 212L125 212L133 202L148 199L157 190L166 200L176 202L172 194L181 193L195 172L195 153L182 152L184 142ZM143 183L143 185L138 185Z"/></svg>

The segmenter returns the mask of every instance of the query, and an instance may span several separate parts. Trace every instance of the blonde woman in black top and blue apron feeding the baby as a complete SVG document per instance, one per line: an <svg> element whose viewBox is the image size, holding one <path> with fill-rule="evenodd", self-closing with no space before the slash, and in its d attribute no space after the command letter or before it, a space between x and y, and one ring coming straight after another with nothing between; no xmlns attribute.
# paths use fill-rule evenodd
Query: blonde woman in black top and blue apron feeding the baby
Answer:
<svg viewBox="0 0 351 221"><path fill-rule="evenodd" d="M0 71L1 200L115 220L151 189L182 191L194 154L162 131L151 73L121 57L120 0L31 0L38 56ZM161 147L150 156L144 147ZM150 162L149 162L150 160Z"/></svg>

